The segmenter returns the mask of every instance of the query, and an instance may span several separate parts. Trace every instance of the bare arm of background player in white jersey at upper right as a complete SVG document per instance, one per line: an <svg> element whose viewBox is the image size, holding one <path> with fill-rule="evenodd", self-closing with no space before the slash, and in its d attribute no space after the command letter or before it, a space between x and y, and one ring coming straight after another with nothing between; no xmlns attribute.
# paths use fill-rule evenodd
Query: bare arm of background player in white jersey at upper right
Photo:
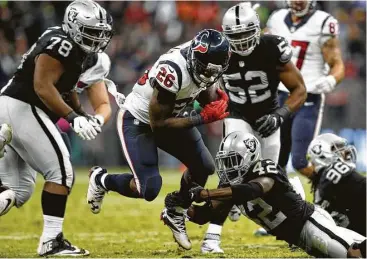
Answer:
<svg viewBox="0 0 367 259"><path fill-rule="evenodd" d="M327 40L321 51L325 62L330 67L329 76L333 76L336 81L335 84L338 84L343 80L345 72L339 40L336 37Z"/></svg>

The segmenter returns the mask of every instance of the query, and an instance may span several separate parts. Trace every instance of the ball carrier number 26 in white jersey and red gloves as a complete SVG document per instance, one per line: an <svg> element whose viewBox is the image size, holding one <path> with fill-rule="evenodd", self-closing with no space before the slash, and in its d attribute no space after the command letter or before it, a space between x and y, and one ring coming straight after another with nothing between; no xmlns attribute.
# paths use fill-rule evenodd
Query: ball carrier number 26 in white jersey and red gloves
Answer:
<svg viewBox="0 0 367 259"><path fill-rule="evenodd" d="M228 113L228 96L215 85L228 68L230 45L216 30L202 30L195 38L161 55L136 82L117 116L121 146L132 174L91 170L87 202L99 213L107 191L131 198L154 200L161 189L157 147L178 158L188 170L181 179L182 207L167 207L164 221L177 242L191 248L184 213L190 206L188 190L195 182L204 186L215 165L196 126L222 120ZM200 114L180 112L198 100Z"/></svg>

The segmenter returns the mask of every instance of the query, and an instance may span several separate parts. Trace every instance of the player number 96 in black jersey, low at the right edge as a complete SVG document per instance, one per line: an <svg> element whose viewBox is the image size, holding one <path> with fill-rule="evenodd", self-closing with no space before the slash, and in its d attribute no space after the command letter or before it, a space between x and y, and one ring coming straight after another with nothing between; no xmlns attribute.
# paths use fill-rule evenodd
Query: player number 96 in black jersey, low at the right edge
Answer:
<svg viewBox="0 0 367 259"><path fill-rule="evenodd" d="M314 202L342 227L366 235L366 177L356 171L356 149L334 134L312 140L307 156Z"/></svg>

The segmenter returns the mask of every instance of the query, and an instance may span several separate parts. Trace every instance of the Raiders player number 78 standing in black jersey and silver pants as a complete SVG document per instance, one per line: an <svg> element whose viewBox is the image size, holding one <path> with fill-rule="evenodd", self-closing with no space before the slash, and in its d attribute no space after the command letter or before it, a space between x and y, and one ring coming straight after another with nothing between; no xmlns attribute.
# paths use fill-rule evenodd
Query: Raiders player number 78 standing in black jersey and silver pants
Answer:
<svg viewBox="0 0 367 259"><path fill-rule="evenodd" d="M83 139L94 139L101 132L101 117L106 115L86 116L73 90L88 67L87 57L97 55L111 39L108 17L106 10L93 1L72 2L66 8L62 27L48 28L41 35L1 91L0 121L11 124L14 135L0 160L0 178L11 193L0 195L0 206L4 199L8 201L0 212L6 213L12 204L22 206L33 193L36 172L43 175L44 228L37 249L41 256L89 254L63 237L74 172L55 122L65 118Z"/></svg>

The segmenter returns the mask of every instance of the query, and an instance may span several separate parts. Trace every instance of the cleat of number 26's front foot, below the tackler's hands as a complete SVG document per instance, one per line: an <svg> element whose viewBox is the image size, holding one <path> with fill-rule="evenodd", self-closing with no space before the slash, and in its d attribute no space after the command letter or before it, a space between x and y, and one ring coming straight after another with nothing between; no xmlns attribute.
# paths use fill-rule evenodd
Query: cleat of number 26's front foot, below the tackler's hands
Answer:
<svg viewBox="0 0 367 259"><path fill-rule="evenodd" d="M177 207L175 208L164 208L161 213L161 220L164 224L169 227L172 231L173 238L176 243L186 250L191 249L191 241L187 236L186 225L185 225L185 210L181 209L180 212Z"/></svg>

